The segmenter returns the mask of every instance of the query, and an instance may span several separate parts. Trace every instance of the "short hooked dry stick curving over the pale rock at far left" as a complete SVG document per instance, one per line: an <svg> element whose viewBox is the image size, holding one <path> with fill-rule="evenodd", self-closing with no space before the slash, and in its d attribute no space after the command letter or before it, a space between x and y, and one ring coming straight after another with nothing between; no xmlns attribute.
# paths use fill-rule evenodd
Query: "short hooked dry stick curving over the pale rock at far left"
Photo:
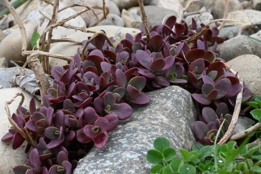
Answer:
<svg viewBox="0 0 261 174"><path fill-rule="evenodd" d="M27 133L27 132L25 133L25 132L13 121L12 116L11 116L11 114L10 114L10 110L9 110L8 104L11 104L11 103L15 100L15 98L18 97L18 96L21 96L21 97L22 97L22 99L21 99L21 101L20 101L18 107L19 107L19 106L22 106L22 104L23 104L23 102L24 102L24 94L23 94L23 93L17 93L17 94L13 97L13 99L11 99L10 101L6 101L6 102L5 102L5 112L6 112L6 114L7 114L8 121L10 122L10 124L12 124L12 126L20 133L20 135L21 135L32 147L34 147L36 144L35 144L35 142L32 140L32 137L31 137L30 133L29 133L29 132L28 132L28 133ZM17 110L17 112L18 112L18 110ZM17 113L17 114L18 114L18 113Z"/></svg>

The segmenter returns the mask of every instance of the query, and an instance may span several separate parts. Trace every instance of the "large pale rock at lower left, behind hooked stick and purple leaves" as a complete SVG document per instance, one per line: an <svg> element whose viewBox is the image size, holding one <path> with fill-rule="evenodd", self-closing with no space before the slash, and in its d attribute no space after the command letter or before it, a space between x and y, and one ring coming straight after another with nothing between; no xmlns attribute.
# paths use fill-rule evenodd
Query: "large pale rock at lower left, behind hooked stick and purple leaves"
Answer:
<svg viewBox="0 0 261 174"><path fill-rule="evenodd" d="M4 103L5 101L11 100L17 93L23 93L24 94L24 104L22 105L25 108L29 108L29 102L32 98L32 96L22 90L21 88L4 88L0 89L0 96L1 96L1 102L0 102L0 138L2 138L3 135L5 135L8 132L8 129L11 127L11 124L9 123L7 119L7 115L5 113L4 109ZM22 99L21 96L17 97L12 104L8 105L10 109L11 115L16 112L16 109L18 107L18 104L20 100ZM36 107L40 107L40 101L35 99ZM12 142L3 142L0 141L0 174L13 174L12 168L15 166L25 164L27 162L26 157L28 154L24 153L25 146L27 145L26 141L24 144L18 148L18 149L12 149Z"/></svg>

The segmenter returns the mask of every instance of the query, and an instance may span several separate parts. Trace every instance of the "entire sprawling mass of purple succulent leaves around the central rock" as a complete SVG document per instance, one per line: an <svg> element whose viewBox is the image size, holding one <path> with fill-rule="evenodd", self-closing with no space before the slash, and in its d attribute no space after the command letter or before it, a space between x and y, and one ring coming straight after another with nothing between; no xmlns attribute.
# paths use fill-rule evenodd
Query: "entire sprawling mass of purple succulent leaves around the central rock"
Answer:
<svg viewBox="0 0 261 174"><path fill-rule="evenodd" d="M69 65L54 67L53 88L43 97L45 106L36 109L31 100L29 110L20 107L20 114L12 116L24 132L24 127L28 129L37 143L27 165L17 166L14 172L71 173L77 160L92 145L103 148L108 140L107 131L132 115L129 103L148 103L145 91L171 84L193 93L196 101L207 106L204 111L216 105L216 111L202 113L200 121L194 124L199 142L212 144L220 122L227 118L225 125L229 124L228 114L242 86L235 75L225 72L224 64L219 61L215 49L224 40L217 36L216 27L190 45L184 42L204 27L197 27L192 20L189 29L185 22L178 24L172 16L166 25L150 29L149 41L142 37L145 33L141 28L142 32L135 37L126 34L126 39L116 48L100 35L88 45L85 60L81 60L78 50ZM208 50L209 46L213 49ZM245 89L244 99L248 98L249 91ZM14 128L2 140L13 140L13 149L25 141ZM30 147L28 144L25 151Z"/></svg>

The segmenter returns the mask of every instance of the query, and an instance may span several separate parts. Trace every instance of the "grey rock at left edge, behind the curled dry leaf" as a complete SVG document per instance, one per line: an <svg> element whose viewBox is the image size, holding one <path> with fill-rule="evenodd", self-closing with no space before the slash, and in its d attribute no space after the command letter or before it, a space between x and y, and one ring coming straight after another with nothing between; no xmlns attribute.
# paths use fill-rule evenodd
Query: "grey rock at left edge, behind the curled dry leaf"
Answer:
<svg viewBox="0 0 261 174"><path fill-rule="evenodd" d="M25 68L24 69L25 75L31 75L33 74L33 71L30 69ZM19 74L19 70L17 67L12 68L0 68L0 85L2 85L5 88L11 88L12 85L9 83L11 81L12 77ZM4 98L2 98L4 99Z"/></svg>

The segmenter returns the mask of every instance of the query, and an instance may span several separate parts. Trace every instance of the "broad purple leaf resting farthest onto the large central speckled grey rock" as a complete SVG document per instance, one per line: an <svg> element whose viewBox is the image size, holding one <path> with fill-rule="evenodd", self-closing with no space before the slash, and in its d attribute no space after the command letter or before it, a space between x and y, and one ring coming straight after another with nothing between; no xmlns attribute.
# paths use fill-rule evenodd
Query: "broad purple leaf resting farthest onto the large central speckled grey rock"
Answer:
<svg viewBox="0 0 261 174"><path fill-rule="evenodd" d="M132 107L127 103L115 103L108 112L116 115L119 120L125 120L132 115Z"/></svg>

